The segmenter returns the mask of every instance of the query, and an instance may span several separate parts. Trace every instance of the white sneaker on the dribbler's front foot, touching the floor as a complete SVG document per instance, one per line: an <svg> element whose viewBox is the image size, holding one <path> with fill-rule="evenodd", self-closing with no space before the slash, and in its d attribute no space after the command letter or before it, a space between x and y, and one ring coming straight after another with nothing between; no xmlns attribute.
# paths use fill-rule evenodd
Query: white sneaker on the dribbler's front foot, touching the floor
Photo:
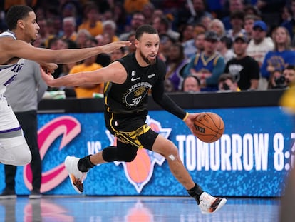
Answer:
<svg viewBox="0 0 295 222"><path fill-rule="evenodd" d="M215 213L222 208L225 203L227 203L227 199L214 197L206 192L203 192L200 196L199 207L203 214Z"/></svg>

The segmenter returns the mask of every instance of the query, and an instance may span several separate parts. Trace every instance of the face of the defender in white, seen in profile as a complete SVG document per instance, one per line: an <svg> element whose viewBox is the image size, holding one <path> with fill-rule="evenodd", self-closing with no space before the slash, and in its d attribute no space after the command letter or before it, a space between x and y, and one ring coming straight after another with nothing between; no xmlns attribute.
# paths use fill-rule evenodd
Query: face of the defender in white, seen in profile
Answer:
<svg viewBox="0 0 295 222"><path fill-rule="evenodd" d="M31 42L37 39L40 27L37 24L36 14L31 11L25 19L19 20L24 29L24 41Z"/></svg>

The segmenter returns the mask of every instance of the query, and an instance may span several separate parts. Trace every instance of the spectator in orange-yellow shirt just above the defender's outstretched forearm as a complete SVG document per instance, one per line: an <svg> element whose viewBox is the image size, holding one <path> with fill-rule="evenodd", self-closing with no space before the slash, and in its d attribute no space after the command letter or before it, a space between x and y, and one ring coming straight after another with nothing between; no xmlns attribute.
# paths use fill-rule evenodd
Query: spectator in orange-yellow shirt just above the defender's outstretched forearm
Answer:
<svg viewBox="0 0 295 222"><path fill-rule="evenodd" d="M100 21L99 9L96 4L89 2L83 10L83 22L78 26L78 31L86 29L90 35L95 37L103 34L103 23Z"/></svg>

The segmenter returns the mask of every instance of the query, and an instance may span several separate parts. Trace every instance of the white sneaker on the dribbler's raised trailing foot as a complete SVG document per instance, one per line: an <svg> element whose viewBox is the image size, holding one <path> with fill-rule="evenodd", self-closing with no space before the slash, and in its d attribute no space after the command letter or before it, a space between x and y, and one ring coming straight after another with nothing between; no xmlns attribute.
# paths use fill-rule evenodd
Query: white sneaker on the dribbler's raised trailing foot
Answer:
<svg viewBox="0 0 295 222"><path fill-rule="evenodd" d="M83 173L78 169L78 161L80 158L67 156L65 159L66 170L71 179L71 184L75 191L83 193L83 181L86 179L87 173Z"/></svg>

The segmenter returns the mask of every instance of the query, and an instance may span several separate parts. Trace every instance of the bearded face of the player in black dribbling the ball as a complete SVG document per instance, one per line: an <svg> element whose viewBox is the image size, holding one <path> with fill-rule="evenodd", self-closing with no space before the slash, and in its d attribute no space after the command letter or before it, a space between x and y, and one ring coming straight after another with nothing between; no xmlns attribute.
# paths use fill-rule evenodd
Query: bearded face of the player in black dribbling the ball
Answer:
<svg viewBox="0 0 295 222"><path fill-rule="evenodd" d="M135 41L136 49L139 51L141 59L146 64L155 64L157 51L159 51L160 38L158 34L146 34L140 40Z"/></svg>

